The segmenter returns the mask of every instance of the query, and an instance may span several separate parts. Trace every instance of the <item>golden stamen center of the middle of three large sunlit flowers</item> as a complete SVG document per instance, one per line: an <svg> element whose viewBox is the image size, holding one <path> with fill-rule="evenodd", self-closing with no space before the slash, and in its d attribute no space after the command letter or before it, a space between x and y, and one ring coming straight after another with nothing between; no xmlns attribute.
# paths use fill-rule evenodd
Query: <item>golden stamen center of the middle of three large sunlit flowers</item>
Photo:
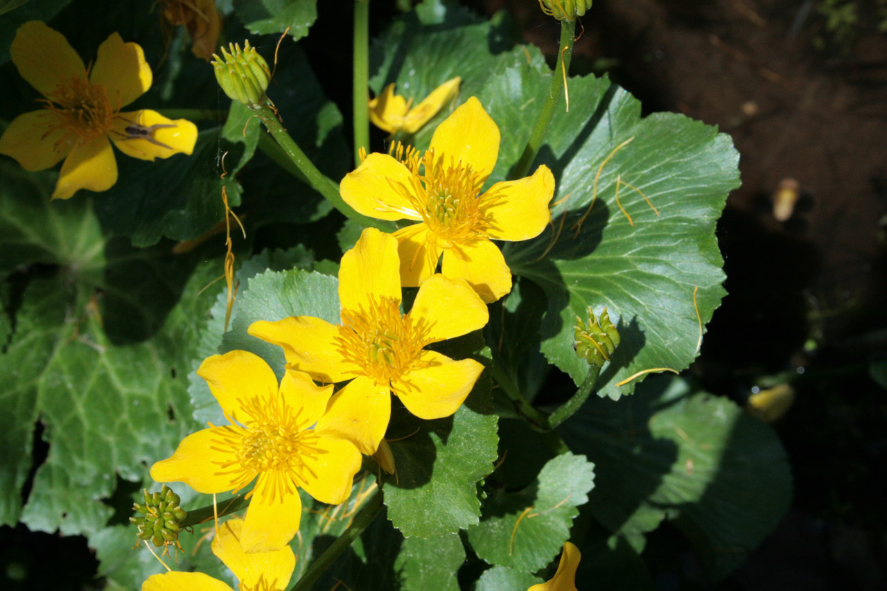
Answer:
<svg viewBox="0 0 887 591"><path fill-rule="evenodd" d="M428 340L423 323L413 323L410 315L400 313L390 297L373 298L369 309L341 311L341 326L336 342L338 351L353 371L376 384L390 385L419 362L419 354Z"/></svg>

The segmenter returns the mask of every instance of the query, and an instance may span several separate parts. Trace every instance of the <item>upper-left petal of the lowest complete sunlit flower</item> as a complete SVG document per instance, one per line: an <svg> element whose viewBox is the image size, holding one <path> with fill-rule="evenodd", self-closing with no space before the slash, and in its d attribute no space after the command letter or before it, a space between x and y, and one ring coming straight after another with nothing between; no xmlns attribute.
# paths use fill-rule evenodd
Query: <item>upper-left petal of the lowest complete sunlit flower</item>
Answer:
<svg viewBox="0 0 887 591"><path fill-rule="evenodd" d="M277 376L265 360L249 351L228 351L203 360L197 374L207 381L219 406L237 422L251 419L246 398L268 400L278 392Z"/></svg>

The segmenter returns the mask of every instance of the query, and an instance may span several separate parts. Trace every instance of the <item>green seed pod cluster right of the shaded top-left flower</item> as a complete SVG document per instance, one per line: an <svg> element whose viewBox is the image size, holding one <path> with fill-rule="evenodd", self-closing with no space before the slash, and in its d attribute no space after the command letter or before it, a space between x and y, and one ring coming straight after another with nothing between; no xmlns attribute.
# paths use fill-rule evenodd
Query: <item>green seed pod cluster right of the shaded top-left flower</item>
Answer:
<svg viewBox="0 0 887 591"><path fill-rule="evenodd" d="M216 70L216 80L225 94L246 106L264 105L265 91L271 82L271 70L258 51L243 42L243 50L236 43L228 43L229 51L222 49L222 58L213 53L210 62Z"/></svg>

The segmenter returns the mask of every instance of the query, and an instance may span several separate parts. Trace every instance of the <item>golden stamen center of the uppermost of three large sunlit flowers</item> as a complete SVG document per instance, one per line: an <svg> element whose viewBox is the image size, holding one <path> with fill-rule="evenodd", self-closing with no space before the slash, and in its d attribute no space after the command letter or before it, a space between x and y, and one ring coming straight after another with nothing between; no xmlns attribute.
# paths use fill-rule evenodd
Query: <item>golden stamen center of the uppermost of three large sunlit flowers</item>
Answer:
<svg viewBox="0 0 887 591"><path fill-rule="evenodd" d="M484 235L489 221L479 209L485 180L463 162L435 162L429 150L421 157L408 149L398 160L412 172L409 187L399 187L436 238L438 248L453 248ZM420 172L421 170L421 172ZM484 195L486 198L486 195Z"/></svg>

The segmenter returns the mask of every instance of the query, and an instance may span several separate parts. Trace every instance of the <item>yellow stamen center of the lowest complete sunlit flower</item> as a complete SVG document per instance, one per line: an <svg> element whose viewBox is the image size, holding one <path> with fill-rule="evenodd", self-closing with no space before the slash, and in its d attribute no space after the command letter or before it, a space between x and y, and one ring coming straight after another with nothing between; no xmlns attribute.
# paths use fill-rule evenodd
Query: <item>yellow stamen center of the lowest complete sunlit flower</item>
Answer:
<svg viewBox="0 0 887 591"><path fill-rule="evenodd" d="M306 476L317 476L305 459L316 459L321 453L318 435L306 429L310 425L299 419L301 409L294 412L276 392L270 398L254 397L239 402L249 415L243 426L236 417L227 417L232 424L213 427L213 449L231 458L216 462L216 476L230 476L236 493L252 482L256 474L262 474L265 477L253 493L260 492L272 502L296 493L296 487L305 485Z"/></svg>

